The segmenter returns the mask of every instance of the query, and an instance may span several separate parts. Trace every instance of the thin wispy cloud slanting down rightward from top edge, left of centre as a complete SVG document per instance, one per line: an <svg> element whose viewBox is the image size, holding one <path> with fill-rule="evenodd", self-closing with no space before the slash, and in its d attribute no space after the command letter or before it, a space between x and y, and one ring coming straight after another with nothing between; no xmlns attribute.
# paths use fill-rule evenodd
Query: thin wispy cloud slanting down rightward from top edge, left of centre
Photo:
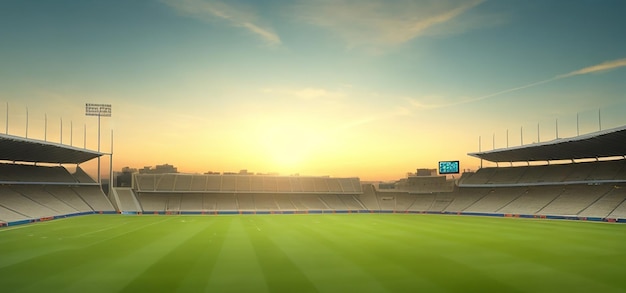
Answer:
<svg viewBox="0 0 626 293"><path fill-rule="evenodd" d="M220 19L234 27L243 28L272 46L280 45L281 39L271 28L257 23L256 14L245 7L234 6L216 0L163 0L174 10L204 21Z"/></svg>

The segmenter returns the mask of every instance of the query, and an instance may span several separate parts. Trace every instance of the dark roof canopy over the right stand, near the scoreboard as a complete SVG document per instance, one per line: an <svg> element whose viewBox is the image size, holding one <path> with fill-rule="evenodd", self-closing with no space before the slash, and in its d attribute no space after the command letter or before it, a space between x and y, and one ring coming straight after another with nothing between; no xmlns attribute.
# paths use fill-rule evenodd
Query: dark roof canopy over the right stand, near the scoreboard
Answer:
<svg viewBox="0 0 626 293"><path fill-rule="evenodd" d="M571 138L468 153L468 155L490 162L556 161L624 156L626 155L626 126Z"/></svg>

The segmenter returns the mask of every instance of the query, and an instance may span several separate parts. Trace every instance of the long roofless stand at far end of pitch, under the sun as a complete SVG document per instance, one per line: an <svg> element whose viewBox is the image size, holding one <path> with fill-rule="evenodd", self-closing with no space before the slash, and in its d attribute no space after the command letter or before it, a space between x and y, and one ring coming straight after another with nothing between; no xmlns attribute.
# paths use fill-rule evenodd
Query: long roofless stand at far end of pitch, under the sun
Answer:
<svg viewBox="0 0 626 293"><path fill-rule="evenodd" d="M143 213L168 210L212 213L367 209L358 198L362 194L358 178L136 173L133 174L133 192ZM156 194L168 199L163 200ZM173 198L180 202L179 205L174 203L175 208L172 208ZM138 211L131 204L122 204L120 210Z"/></svg>

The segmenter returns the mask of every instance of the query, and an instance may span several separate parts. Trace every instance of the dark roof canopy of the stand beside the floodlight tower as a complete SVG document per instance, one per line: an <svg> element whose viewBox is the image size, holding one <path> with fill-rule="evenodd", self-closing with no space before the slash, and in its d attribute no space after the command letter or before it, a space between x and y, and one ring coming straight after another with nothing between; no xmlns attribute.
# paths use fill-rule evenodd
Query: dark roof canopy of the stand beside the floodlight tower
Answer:
<svg viewBox="0 0 626 293"><path fill-rule="evenodd" d="M0 134L0 160L80 164L102 155L100 152L63 144Z"/></svg>

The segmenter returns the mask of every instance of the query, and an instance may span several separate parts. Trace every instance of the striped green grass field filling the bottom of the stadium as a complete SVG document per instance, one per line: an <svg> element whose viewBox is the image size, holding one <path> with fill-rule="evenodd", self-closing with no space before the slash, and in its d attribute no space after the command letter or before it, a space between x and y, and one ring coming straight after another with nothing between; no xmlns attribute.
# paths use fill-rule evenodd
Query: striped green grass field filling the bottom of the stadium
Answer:
<svg viewBox="0 0 626 293"><path fill-rule="evenodd" d="M94 215L0 229L1 292L626 292L626 225Z"/></svg>

